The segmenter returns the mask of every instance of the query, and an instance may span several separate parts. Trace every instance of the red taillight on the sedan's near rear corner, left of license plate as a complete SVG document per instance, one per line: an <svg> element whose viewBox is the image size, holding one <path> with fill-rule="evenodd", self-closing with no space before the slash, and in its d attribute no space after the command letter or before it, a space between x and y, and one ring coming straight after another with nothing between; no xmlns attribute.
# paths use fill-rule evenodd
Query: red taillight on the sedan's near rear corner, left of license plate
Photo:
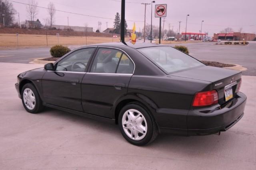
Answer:
<svg viewBox="0 0 256 170"><path fill-rule="evenodd" d="M196 93L192 106L210 106L216 103L218 103L218 92L211 90Z"/></svg>

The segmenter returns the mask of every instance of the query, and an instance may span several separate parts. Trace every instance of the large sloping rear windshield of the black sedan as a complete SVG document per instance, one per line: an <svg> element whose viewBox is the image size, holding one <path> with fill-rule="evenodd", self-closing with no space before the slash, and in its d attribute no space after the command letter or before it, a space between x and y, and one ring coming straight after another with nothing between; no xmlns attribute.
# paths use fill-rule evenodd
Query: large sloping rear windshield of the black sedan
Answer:
<svg viewBox="0 0 256 170"><path fill-rule="evenodd" d="M204 66L198 60L169 46L146 47L138 49L152 62L167 73Z"/></svg>

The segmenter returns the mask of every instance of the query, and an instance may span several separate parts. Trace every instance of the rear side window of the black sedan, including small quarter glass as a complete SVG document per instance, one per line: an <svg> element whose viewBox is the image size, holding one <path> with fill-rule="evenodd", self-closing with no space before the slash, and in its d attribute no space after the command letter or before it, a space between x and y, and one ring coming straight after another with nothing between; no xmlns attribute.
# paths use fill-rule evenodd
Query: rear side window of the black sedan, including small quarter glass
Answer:
<svg viewBox="0 0 256 170"><path fill-rule="evenodd" d="M111 48L100 48L92 63L93 73L132 74L134 65L122 51Z"/></svg>

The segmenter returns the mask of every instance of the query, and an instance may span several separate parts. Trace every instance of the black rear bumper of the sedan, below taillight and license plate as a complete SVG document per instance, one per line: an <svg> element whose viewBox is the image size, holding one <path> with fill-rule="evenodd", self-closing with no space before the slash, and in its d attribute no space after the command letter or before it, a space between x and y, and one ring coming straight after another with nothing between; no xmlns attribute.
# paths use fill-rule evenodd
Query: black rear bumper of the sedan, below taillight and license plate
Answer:
<svg viewBox="0 0 256 170"><path fill-rule="evenodd" d="M226 131L244 116L246 95L238 92L228 103L188 111L187 129L160 127L161 133L178 135L208 135Z"/></svg>

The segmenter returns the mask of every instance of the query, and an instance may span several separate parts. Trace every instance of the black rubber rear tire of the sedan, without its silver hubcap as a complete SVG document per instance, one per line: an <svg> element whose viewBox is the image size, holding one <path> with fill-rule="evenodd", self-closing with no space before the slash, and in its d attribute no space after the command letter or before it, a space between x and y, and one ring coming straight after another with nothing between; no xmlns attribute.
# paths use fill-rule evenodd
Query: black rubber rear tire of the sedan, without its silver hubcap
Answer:
<svg viewBox="0 0 256 170"><path fill-rule="evenodd" d="M126 134L126 132L124 132L124 128L122 125L122 118L125 112L130 109L138 110L146 119L147 132L146 132L146 136L144 136L144 138L142 138L141 140L133 140ZM154 118L144 108L144 106L142 106L139 103L129 103L121 109L120 114L118 116L118 126L124 138L131 144L134 144L137 146L143 146L143 145L149 144L150 142L154 141L158 136L158 128Z"/></svg>

